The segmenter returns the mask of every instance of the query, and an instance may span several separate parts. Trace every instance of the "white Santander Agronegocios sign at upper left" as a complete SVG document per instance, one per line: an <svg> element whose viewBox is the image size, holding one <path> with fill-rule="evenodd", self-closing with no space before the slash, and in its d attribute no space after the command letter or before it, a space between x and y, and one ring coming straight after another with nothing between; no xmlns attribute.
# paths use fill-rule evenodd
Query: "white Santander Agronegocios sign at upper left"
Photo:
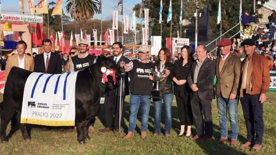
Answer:
<svg viewBox="0 0 276 155"><path fill-rule="evenodd" d="M0 16L0 19L7 20L7 21L43 23L43 17L32 16L32 15L15 15L15 14L2 13Z"/></svg>

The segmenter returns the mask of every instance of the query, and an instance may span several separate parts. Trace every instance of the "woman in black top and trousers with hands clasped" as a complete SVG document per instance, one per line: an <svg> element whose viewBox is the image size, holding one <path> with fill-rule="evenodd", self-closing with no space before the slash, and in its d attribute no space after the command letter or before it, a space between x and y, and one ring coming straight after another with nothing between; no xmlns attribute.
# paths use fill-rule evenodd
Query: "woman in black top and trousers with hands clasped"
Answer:
<svg viewBox="0 0 276 155"><path fill-rule="evenodd" d="M181 57L179 60L175 61L173 72L170 75L171 80L174 82L173 88L181 127L178 137L184 135L185 125L187 125L185 136L191 136L191 125L193 123L193 113L190 101L191 90L186 81L192 65L191 56L191 47L183 46L181 48Z"/></svg>

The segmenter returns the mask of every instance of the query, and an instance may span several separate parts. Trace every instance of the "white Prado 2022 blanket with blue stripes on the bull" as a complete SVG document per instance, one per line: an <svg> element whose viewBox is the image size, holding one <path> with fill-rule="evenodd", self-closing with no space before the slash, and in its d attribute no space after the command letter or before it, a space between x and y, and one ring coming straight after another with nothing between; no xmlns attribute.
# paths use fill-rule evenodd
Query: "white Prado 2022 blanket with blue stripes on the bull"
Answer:
<svg viewBox="0 0 276 155"><path fill-rule="evenodd" d="M24 88L21 123L74 126L77 74L31 73Z"/></svg>

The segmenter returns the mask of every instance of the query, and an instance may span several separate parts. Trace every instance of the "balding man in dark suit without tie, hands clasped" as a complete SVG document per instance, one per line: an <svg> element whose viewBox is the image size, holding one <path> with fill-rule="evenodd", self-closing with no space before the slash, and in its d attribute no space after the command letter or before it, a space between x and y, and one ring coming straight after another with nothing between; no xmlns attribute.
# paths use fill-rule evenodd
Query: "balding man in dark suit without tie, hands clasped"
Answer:
<svg viewBox="0 0 276 155"><path fill-rule="evenodd" d="M197 60L193 62L188 75L188 84L193 90L191 107L196 122L196 135L193 140L213 135L212 99L214 99L215 62L207 58L204 45L196 48ZM204 120L203 120L204 117Z"/></svg>

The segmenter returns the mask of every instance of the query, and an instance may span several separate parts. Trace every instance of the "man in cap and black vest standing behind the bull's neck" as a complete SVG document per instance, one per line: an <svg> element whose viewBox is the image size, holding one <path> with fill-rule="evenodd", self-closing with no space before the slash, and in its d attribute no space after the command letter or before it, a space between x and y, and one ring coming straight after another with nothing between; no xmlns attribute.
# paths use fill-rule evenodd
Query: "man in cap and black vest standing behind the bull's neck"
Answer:
<svg viewBox="0 0 276 155"><path fill-rule="evenodd" d="M80 40L78 43L78 49L79 53L78 55L75 55L72 57L71 61L71 69L70 71L80 71L83 70L90 65L96 63L96 59L93 55L90 55L87 53L87 47L88 47L88 42L85 39ZM94 122L95 118L90 119L90 125L89 125L89 131L94 132Z"/></svg>

